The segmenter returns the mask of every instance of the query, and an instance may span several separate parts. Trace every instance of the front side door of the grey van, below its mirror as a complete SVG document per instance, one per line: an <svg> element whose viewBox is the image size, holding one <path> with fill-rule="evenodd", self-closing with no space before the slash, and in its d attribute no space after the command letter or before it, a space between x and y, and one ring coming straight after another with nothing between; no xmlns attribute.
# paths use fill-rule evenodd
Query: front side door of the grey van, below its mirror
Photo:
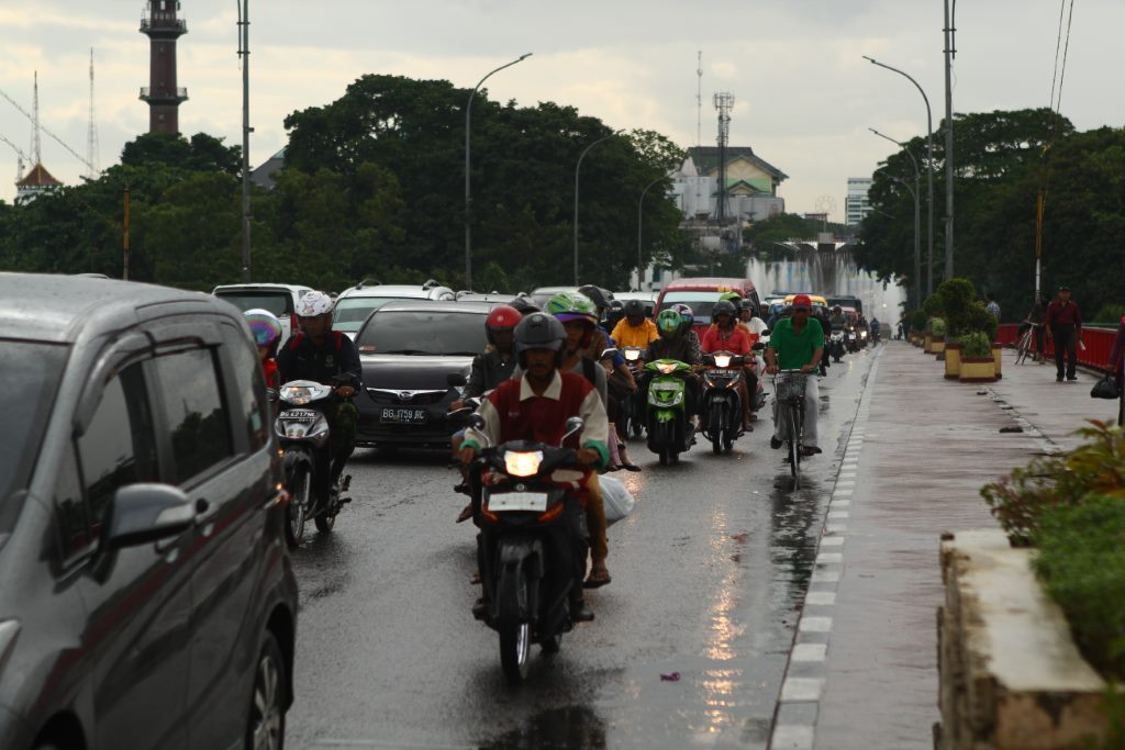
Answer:
<svg viewBox="0 0 1125 750"><path fill-rule="evenodd" d="M143 365L134 358L115 365L104 383L91 383L97 407L73 441L94 540L118 488L161 479ZM187 747L189 542L183 534L160 544L98 550L76 573L89 612L83 649L96 662L97 747Z"/></svg>

